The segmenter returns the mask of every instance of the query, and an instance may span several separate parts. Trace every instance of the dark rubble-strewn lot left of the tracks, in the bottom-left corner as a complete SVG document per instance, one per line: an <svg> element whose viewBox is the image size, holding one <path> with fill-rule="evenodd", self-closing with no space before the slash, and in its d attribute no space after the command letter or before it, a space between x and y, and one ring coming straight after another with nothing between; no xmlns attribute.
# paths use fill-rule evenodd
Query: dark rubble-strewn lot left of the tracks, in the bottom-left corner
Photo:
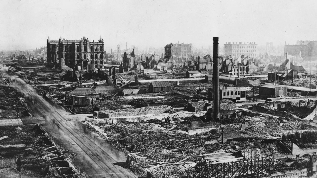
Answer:
<svg viewBox="0 0 317 178"><path fill-rule="evenodd" d="M0 136L0 169L15 168L22 176L83 177L72 164L74 154L57 146L40 125L1 127Z"/></svg>

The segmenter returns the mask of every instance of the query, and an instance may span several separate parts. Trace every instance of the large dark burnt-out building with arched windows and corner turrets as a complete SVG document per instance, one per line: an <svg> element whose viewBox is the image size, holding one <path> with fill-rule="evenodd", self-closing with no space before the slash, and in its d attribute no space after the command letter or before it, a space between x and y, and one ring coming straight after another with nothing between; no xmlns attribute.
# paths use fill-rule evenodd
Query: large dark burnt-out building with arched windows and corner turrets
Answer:
<svg viewBox="0 0 317 178"><path fill-rule="evenodd" d="M81 40L47 39L47 65L63 68L68 66L75 69L87 69L88 64L96 68L103 67L104 43L100 36L99 41L90 42L88 38Z"/></svg>

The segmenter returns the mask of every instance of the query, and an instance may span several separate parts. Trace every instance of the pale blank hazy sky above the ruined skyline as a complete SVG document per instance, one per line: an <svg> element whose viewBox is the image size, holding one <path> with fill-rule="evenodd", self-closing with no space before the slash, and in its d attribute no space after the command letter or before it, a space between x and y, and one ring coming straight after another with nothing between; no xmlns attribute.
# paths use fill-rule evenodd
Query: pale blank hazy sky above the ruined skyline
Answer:
<svg viewBox="0 0 317 178"><path fill-rule="evenodd" d="M185 42L201 48L219 43L275 45L317 40L314 0L2 0L0 50L35 49L50 40L104 39L139 48ZM122 46L121 48L125 48Z"/></svg>

